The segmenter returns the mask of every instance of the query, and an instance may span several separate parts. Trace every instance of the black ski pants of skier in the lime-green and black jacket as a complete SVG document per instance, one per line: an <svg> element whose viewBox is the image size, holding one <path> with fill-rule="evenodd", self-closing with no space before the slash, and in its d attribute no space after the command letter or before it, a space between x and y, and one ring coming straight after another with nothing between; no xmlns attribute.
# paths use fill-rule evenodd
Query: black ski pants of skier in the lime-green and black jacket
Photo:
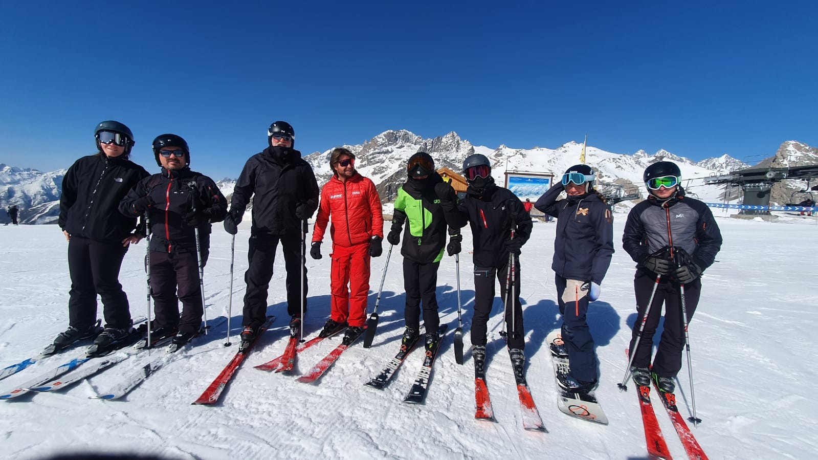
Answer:
<svg viewBox="0 0 818 460"><path fill-rule="evenodd" d="M434 332L440 327L438 316L438 268L440 262L420 264L403 258L403 289L407 292L407 304L403 317L407 327L420 330L420 300L423 300L423 323L426 332Z"/></svg>

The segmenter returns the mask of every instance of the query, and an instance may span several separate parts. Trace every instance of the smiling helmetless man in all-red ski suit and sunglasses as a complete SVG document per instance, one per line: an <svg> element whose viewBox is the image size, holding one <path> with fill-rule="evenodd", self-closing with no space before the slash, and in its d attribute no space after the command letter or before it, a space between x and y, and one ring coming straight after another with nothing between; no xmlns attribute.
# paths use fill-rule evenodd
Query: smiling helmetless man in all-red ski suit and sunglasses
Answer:
<svg viewBox="0 0 818 460"><path fill-rule="evenodd" d="M330 223L330 320L326 333L347 324L347 336L360 336L366 324L370 257L383 252L384 216L375 184L355 170L355 156L343 147L330 153L332 178L321 188L312 228L312 259L321 259L321 241ZM349 286L349 287L347 287ZM351 292L350 292L351 291Z"/></svg>

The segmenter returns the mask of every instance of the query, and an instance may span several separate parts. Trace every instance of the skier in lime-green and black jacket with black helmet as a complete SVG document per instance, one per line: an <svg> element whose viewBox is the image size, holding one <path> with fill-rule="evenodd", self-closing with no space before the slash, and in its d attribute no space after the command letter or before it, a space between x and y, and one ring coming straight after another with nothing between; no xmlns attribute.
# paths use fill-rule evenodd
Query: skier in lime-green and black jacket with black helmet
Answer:
<svg viewBox="0 0 818 460"><path fill-rule="evenodd" d="M456 228L456 213L445 211L434 193L443 178L434 169L434 160L419 151L407 161L407 182L398 188L395 199L392 228L386 239L391 245L401 244L403 255L403 287L406 290L404 318L406 330L402 344L411 344L420 333L420 301L423 301L423 322L426 327L425 347L435 350L438 342L438 268L446 245L447 226L452 228L452 241L460 246L460 232ZM448 186L447 186L448 187ZM451 187L449 187L451 189ZM452 243L449 243L452 246Z"/></svg>

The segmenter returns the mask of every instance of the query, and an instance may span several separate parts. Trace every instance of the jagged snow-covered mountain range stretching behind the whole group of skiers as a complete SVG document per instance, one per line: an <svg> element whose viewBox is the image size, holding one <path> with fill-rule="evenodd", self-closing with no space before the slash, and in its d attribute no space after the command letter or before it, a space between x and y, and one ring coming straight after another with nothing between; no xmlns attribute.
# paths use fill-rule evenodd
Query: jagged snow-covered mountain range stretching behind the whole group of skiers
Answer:
<svg viewBox="0 0 818 460"><path fill-rule="evenodd" d="M355 153L356 168L361 174L372 179L384 203L393 200L398 187L406 180L404 165L417 151L428 152L438 168L445 166L456 172L461 170L463 160L467 156L482 153L492 161L492 175L498 184L505 183L506 171L553 173L558 176L569 166L579 162L582 151L582 144L573 141L555 149L546 147L515 149L505 144L492 149L474 146L454 132L425 139L405 129L385 131L362 144L343 147ZM332 149L304 156L304 160L312 165L320 185L331 177L330 151ZM674 161L681 169L682 185L685 190L704 201L739 199L736 187L732 187L730 196L725 197L725 186L705 184L703 178L748 167L727 155L695 163L665 150L659 150L653 155L642 150L633 154L621 154L593 146L587 147L586 159L587 164L598 171L598 187L621 186L626 193L639 192L641 196L645 196L647 192L642 184L642 171L645 167L658 160ZM818 149L801 142L784 142L775 156L764 160L759 166L768 164L773 166L818 164ZM22 223L55 222L59 214L58 201L64 174L65 169L42 173L36 169L20 169L0 164L0 207L5 210L8 205L18 205ZM772 201L775 203L801 201L798 190L802 190L806 182L788 182L792 183L775 185ZM236 185L235 179L223 178L217 184L229 200ZM5 213L0 214L2 214L0 222L7 222Z"/></svg>

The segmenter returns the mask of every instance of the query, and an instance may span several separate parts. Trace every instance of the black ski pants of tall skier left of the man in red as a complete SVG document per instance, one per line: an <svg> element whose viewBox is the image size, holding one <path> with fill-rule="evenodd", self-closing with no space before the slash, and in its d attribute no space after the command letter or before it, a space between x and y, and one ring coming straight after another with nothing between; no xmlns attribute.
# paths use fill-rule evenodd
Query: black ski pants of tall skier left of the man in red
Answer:
<svg viewBox="0 0 818 460"><path fill-rule="evenodd" d="M267 290L272 279L272 268L276 262L276 248L281 241L284 252L284 267L287 271L287 313L301 313L301 302L304 312L307 311L307 268L301 255L301 235L296 232L288 235L270 235L254 233L249 240L247 259L249 268L245 272L245 308L242 326L261 326L267 316ZM304 276L301 277L303 268ZM303 283L304 295L301 296Z"/></svg>

